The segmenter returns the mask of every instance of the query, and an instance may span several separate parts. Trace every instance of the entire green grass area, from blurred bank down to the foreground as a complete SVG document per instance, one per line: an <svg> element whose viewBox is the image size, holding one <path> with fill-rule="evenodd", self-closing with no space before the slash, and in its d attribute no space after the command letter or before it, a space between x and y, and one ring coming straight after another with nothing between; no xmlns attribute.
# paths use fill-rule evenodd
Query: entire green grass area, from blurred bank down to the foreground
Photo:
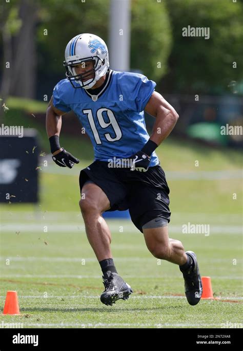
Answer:
<svg viewBox="0 0 243 351"><path fill-rule="evenodd" d="M13 123L11 113L9 118ZM13 113L12 118L36 127L22 115ZM42 150L48 152L44 127L38 129ZM78 174L92 162L92 150L81 138L65 134L62 138L80 164L72 170L60 169L52 161L47 169L42 167L38 205L1 206L0 309L7 290L16 290L21 316L1 315L0 324L220 328L231 322L242 326L242 156L175 138L156 150L171 190L170 237L196 252L201 275L211 277L217 299L190 306L178 267L154 258L130 221L109 220L115 265L134 293L128 301L108 307L99 301L102 274L78 209ZM44 159L40 157L40 165ZM182 234L182 225L188 222L209 224L210 235Z"/></svg>

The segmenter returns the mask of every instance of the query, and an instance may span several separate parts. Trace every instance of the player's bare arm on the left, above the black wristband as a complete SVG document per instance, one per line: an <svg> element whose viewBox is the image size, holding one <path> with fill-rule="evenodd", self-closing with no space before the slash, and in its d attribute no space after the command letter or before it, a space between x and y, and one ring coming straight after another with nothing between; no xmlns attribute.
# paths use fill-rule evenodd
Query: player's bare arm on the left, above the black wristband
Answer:
<svg viewBox="0 0 243 351"><path fill-rule="evenodd" d="M66 112L63 112L53 105L53 96L48 104L47 114L46 114L46 130L48 138L53 135L60 135L60 130L62 128L62 115L65 115ZM59 149L53 153L53 155L58 154L62 149Z"/></svg>

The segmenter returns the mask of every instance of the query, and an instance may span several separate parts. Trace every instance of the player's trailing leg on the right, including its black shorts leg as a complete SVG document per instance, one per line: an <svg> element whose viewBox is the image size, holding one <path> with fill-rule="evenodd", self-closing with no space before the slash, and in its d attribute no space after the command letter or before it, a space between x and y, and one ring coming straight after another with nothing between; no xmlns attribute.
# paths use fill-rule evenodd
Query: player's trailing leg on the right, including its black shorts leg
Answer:
<svg viewBox="0 0 243 351"><path fill-rule="evenodd" d="M140 173L140 172L139 172ZM146 245L157 258L179 265L185 280L189 304L196 305L202 293L201 278L194 252L185 252L180 241L169 239L169 188L165 173L152 167L146 173L136 174L139 182L131 187L130 214L135 226L144 233Z"/></svg>

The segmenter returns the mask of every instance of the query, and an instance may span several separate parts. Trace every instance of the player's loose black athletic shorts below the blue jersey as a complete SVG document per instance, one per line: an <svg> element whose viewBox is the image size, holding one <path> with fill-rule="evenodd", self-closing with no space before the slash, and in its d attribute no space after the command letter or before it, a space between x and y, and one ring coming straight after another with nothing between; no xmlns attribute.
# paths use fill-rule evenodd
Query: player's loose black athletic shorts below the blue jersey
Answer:
<svg viewBox="0 0 243 351"><path fill-rule="evenodd" d="M147 172L126 168L108 168L108 162L94 161L80 172L80 193L84 183L92 180L107 195L111 208L108 211L129 209L134 225L143 233L148 221L163 217L170 221L169 187L160 165Z"/></svg>

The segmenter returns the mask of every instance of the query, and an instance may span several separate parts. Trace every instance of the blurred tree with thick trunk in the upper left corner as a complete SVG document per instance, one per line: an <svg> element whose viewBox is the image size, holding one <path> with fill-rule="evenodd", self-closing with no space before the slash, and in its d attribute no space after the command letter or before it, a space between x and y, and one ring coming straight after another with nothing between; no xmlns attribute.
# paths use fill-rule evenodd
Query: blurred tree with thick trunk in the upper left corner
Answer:
<svg viewBox="0 0 243 351"><path fill-rule="evenodd" d="M2 2L3 73L1 96L33 98L35 94L35 26L37 2Z"/></svg>

